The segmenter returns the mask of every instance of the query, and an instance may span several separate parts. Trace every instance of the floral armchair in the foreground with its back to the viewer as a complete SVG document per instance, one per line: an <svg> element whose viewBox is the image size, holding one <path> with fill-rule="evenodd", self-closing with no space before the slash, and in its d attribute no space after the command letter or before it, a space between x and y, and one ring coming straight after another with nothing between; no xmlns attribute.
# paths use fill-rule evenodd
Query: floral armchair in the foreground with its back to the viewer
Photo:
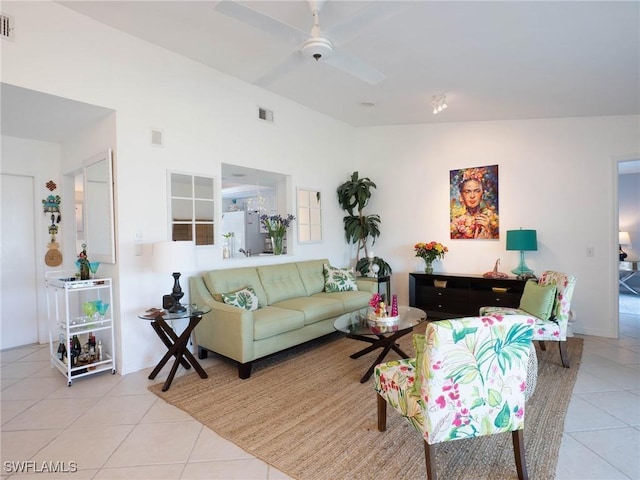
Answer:
<svg viewBox="0 0 640 480"><path fill-rule="evenodd" d="M524 451L530 315L469 317L427 325L414 335L416 358L376 366L378 430L387 403L422 435L429 480L436 480L434 445L512 432L518 478L528 478Z"/></svg>

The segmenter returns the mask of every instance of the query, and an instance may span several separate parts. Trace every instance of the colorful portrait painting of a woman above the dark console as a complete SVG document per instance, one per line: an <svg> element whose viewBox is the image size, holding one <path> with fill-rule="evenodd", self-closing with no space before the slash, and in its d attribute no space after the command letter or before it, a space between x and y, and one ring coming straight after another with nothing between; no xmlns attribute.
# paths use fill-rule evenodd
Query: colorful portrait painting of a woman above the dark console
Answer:
<svg viewBox="0 0 640 480"><path fill-rule="evenodd" d="M500 238L498 166L449 172L452 239Z"/></svg>

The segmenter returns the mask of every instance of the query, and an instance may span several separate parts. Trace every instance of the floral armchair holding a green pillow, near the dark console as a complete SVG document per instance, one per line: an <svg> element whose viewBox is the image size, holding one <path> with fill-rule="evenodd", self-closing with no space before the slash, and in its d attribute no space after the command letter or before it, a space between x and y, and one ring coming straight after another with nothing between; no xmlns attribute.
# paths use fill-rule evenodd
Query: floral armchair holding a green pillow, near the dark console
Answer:
<svg viewBox="0 0 640 480"><path fill-rule="evenodd" d="M569 355L567 353L567 327L571 316L571 297L576 284L576 277L565 273L547 270L538 280L538 285L554 286L555 296L550 309L549 318L535 316L536 326L533 331L533 340L538 341L540 348L546 350L545 341L558 342L560 347L560 359L565 368L569 368ZM526 293L526 292L525 292ZM480 315L530 315L521 308L508 307L481 307Z"/></svg>

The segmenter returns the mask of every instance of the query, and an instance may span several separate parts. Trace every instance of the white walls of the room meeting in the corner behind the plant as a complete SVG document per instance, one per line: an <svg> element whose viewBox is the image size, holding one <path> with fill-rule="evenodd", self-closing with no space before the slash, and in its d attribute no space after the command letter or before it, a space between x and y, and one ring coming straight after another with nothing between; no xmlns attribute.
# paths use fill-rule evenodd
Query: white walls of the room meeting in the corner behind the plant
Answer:
<svg viewBox="0 0 640 480"><path fill-rule="evenodd" d="M2 42L2 81L116 111L116 196L120 292L119 371L153 365L164 347L138 313L157 306L171 284L152 272L151 244L168 238L166 171L212 175L223 162L286 173L296 186L324 195L320 245L294 243L286 259L349 261L336 187L354 170L378 184L370 209L382 216L376 254L394 268L393 288L407 300L407 274L420 265L417 241L450 247L449 272L482 273L496 258L517 263L499 241L448 241L448 172L500 165L503 231L535 228L539 251L529 266L578 276L575 331L614 336L617 286L612 158L640 153L638 117L487 122L355 130L305 107L123 35L50 2L3 2L19 31ZM275 123L256 120L257 106ZM165 145L150 145L150 131ZM293 213L294 205L291 205ZM218 218L220 210L218 210ZM142 233L144 255L135 256ZM585 250L596 255L587 258ZM199 250L201 270L223 263L221 247ZM275 258L255 262L281 261Z"/></svg>

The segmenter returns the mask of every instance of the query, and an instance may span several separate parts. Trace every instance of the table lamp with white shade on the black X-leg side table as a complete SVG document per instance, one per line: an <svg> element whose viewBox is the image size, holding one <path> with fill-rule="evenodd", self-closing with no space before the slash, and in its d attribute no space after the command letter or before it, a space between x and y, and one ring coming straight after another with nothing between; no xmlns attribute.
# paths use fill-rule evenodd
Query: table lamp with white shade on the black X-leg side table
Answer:
<svg viewBox="0 0 640 480"><path fill-rule="evenodd" d="M192 272L198 268L196 246L194 242L163 241L153 244L153 269L156 272L169 272L173 275L173 305L169 313L184 312L186 307L180 303L184 296L180 288L180 272Z"/></svg>

